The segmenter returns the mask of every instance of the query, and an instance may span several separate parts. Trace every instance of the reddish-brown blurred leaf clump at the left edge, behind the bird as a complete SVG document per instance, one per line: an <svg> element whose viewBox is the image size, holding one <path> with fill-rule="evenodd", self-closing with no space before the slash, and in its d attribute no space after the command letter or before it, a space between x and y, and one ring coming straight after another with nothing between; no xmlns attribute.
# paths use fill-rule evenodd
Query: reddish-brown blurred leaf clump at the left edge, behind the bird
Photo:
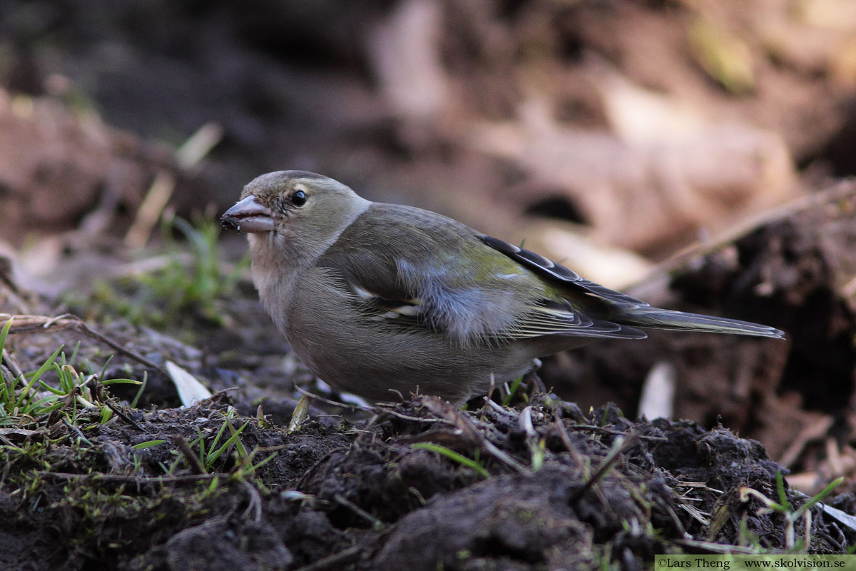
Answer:
<svg viewBox="0 0 856 571"><path fill-rule="evenodd" d="M71 229L107 193L134 207L168 161L92 113L0 90L0 235L20 245L29 232Z"/></svg>

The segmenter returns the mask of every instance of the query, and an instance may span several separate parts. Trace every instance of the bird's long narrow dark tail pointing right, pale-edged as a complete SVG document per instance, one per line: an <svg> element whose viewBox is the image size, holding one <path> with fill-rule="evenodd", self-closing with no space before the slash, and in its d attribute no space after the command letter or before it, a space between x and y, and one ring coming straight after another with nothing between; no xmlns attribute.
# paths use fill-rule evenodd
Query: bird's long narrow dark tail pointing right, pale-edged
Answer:
<svg viewBox="0 0 856 571"><path fill-rule="evenodd" d="M757 337L784 338L784 333L775 327L754 324L738 319L717 318L698 313L675 312L659 307L642 306L621 312L621 324L646 329L665 329L675 331L706 331L709 333L730 333Z"/></svg>

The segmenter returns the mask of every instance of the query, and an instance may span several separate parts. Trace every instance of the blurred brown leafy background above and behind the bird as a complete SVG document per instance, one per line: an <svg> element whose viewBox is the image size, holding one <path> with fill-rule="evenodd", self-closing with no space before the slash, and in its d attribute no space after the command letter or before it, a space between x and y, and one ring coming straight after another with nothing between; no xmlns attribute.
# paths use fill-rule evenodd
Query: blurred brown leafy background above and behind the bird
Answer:
<svg viewBox="0 0 856 571"><path fill-rule="evenodd" d="M160 169L187 211L294 168L663 259L856 168L850 0L6 0L0 81L17 243L133 217Z"/></svg>

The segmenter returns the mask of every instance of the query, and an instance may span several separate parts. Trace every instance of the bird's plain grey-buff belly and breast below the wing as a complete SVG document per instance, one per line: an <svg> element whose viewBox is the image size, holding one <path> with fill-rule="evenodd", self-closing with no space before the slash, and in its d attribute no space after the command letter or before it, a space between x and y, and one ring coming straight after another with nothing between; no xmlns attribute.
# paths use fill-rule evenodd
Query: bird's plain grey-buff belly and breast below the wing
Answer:
<svg viewBox="0 0 856 571"><path fill-rule="evenodd" d="M295 283L278 321L294 352L318 378L372 400L399 394L441 396L455 404L526 372L537 354L519 343L461 346L449 335L360 312L329 270L314 268ZM318 300L324 300L319 303Z"/></svg>

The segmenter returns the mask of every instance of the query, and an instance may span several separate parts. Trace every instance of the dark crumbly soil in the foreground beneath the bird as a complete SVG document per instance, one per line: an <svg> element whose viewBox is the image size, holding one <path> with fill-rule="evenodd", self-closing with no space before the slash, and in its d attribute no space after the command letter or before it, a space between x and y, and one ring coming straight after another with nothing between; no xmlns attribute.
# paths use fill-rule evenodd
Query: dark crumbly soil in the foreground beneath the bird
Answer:
<svg viewBox="0 0 856 571"><path fill-rule="evenodd" d="M253 478L230 479L230 455L216 485L163 476L176 438L211 438L228 406L129 412L133 425L87 427L87 445L53 427L59 443L39 462L4 468L3 568L643 568L655 553L740 544L746 532L783 544L782 517L737 497L739 486L776 497L782 467L722 428L633 423L610 407L585 416L545 396L471 413L422 397L335 429L238 417L247 449L275 451ZM131 448L154 438L165 442ZM490 476L413 447L425 442L480 457ZM813 513L812 551L852 544L852 530Z"/></svg>

